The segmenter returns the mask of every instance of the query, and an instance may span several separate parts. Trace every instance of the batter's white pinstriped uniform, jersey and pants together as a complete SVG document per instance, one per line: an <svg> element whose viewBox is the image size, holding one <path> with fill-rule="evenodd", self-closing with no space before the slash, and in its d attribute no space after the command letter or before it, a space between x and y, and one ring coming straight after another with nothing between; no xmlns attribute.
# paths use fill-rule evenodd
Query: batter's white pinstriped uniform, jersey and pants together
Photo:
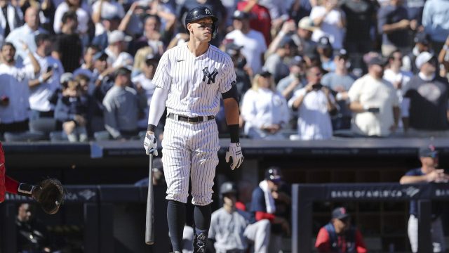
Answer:
<svg viewBox="0 0 449 253"><path fill-rule="evenodd" d="M209 45L206 53L196 57L186 43L163 54L153 82L170 90L168 115L207 117L220 110L221 93L229 91L235 79L234 65L226 53ZM191 123L168 117L162 148L167 200L187 202L190 176L192 203L210 204L220 148L215 120Z"/></svg>

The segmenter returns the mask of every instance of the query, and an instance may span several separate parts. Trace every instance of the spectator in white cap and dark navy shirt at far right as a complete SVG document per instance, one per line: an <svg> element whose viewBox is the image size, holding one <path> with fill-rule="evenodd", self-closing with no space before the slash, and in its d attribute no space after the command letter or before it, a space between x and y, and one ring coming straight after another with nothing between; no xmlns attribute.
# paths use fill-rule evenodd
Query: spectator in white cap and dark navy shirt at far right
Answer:
<svg viewBox="0 0 449 253"><path fill-rule="evenodd" d="M403 89L402 118L410 136L449 136L448 80L436 73L436 57L422 52L415 60L420 70Z"/></svg>

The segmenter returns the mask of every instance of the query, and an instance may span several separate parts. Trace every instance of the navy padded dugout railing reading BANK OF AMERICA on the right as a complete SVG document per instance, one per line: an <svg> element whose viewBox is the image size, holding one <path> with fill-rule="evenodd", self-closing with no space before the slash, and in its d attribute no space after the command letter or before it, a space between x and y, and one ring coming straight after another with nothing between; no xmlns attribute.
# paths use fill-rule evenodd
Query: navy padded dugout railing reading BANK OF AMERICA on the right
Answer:
<svg viewBox="0 0 449 253"><path fill-rule="evenodd" d="M431 233L429 233L431 200L449 200L449 183L294 184L292 187L292 252L311 252L314 236L312 236L314 202L407 202L410 200L417 200L418 203L418 252L432 252Z"/></svg>

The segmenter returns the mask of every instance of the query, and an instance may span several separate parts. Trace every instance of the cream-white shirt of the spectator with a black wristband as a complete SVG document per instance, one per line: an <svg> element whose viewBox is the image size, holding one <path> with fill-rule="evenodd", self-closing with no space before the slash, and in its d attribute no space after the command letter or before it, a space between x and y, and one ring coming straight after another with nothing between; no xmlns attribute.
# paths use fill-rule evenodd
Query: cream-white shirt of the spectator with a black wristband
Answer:
<svg viewBox="0 0 449 253"><path fill-rule="evenodd" d="M348 91L351 102L358 101L363 106L379 108L380 112L358 112L354 114L352 129L357 134L368 136L388 136L394 125L393 108L398 106L396 90L389 82L374 79L366 74L352 84Z"/></svg>

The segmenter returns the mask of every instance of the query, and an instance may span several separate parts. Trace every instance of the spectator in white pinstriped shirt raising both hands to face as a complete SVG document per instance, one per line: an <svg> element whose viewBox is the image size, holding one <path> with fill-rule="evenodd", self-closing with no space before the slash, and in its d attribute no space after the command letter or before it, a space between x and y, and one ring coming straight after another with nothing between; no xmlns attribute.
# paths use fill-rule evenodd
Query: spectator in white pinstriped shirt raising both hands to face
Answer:
<svg viewBox="0 0 449 253"><path fill-rule="evenodd" d="M288 106L298 111L297 131L300 140L326 140L332 137L330 112L335 111L335 98L321 84L320 67L309 67L307 85L293 93Z"/></svg>

